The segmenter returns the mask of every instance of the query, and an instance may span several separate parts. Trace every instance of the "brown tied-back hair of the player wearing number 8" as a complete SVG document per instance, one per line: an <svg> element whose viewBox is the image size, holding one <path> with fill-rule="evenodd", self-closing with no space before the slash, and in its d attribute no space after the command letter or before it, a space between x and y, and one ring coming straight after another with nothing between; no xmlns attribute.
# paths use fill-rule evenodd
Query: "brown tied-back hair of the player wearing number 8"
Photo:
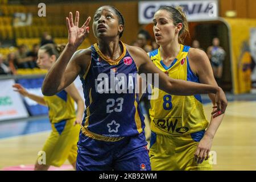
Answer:
<svg viewBox="0 0 256 182"><path fill-rule="evenodd" d="M187 35L189 36L187 16L184 14L182 8L172 6L161 6L159 10L166 10L171 14L171 18L176 26L178 23L182 23L182 28L179 32L179 43L183 43Z"/></svg>

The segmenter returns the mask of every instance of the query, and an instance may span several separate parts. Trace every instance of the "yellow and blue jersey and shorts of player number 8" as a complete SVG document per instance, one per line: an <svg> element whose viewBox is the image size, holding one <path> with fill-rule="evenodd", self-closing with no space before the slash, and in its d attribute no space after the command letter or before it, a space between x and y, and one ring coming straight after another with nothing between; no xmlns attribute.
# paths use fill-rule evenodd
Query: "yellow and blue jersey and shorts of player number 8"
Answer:
<svg viewBox="0 0 256 182"><path fill-rule="evenodd" d="M163 63L160 49L148 55L156 67L171 78L199 82L189 67L189 48L180 44L180 52L169 67ZM208 161L197 164L194 159L197 144L209 124L201 96L172 96L158 88L154 88L154 92L159 95L151 100L150 109L152 170L211 169Z"/></svg>

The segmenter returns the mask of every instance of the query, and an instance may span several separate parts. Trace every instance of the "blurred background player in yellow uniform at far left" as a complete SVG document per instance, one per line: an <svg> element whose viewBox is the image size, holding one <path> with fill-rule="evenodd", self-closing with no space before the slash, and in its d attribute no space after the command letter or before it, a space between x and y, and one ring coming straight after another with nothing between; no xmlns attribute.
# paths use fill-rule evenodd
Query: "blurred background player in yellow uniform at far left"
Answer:
<svg viewBox="0 0 256 182"><path fill-rule="evenodd" d="M37 64L40 68L49 69L55 63L58 56L59 52L57 52L55 46L53 44L46 44L39 49ZM20 84L15 84L13 87L22 96L49 107L49 120L52 132L42 149L46 154L46 164L40 164L38 158L35 170L47 170L49 166L60 167L67 159L75 168L77 141L84 112L84 102L75 85L69 85L54 96L44 97L28 93ZM77 104L77 115L74 100Z"/></svg>

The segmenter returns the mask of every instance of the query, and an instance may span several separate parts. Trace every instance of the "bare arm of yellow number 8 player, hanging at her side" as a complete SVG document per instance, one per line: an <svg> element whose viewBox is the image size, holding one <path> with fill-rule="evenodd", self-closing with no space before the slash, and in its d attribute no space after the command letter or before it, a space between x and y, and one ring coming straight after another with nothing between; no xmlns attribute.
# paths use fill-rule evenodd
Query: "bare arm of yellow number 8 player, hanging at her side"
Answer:
<svg viewBox="0 0 256 182"><path fill-rule="evenodd" d="M212 67L210 61L204 51L200 49L191 49L189 51L189 63L192 71L199 77L199 80L203 84L209 84L217 86L217 82L214 79ZM213 111L216 110L215 94L209 94L210 100L213 103ZM224 114L218 117L211 117L209 126L205 131L204 137L199 142L195 152L195 158L198 163L202 163L209 158L210 148L212 147L212 140L218 127L220 126Z"/></svg>

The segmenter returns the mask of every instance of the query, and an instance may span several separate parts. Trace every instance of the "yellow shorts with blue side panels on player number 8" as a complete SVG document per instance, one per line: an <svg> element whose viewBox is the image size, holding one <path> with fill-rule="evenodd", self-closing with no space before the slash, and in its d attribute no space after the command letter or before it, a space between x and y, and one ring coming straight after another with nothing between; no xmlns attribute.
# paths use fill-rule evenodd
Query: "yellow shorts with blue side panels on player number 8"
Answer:
<svg viewBox="0 0 256 182"><path fill-rule="evenodd" d="M212 170L211 158L197 164L195 152L197 145L204 136L204 131L194 134L172 136L151 134L150 162L151 169L155 171L178 170Z"/></svg>

